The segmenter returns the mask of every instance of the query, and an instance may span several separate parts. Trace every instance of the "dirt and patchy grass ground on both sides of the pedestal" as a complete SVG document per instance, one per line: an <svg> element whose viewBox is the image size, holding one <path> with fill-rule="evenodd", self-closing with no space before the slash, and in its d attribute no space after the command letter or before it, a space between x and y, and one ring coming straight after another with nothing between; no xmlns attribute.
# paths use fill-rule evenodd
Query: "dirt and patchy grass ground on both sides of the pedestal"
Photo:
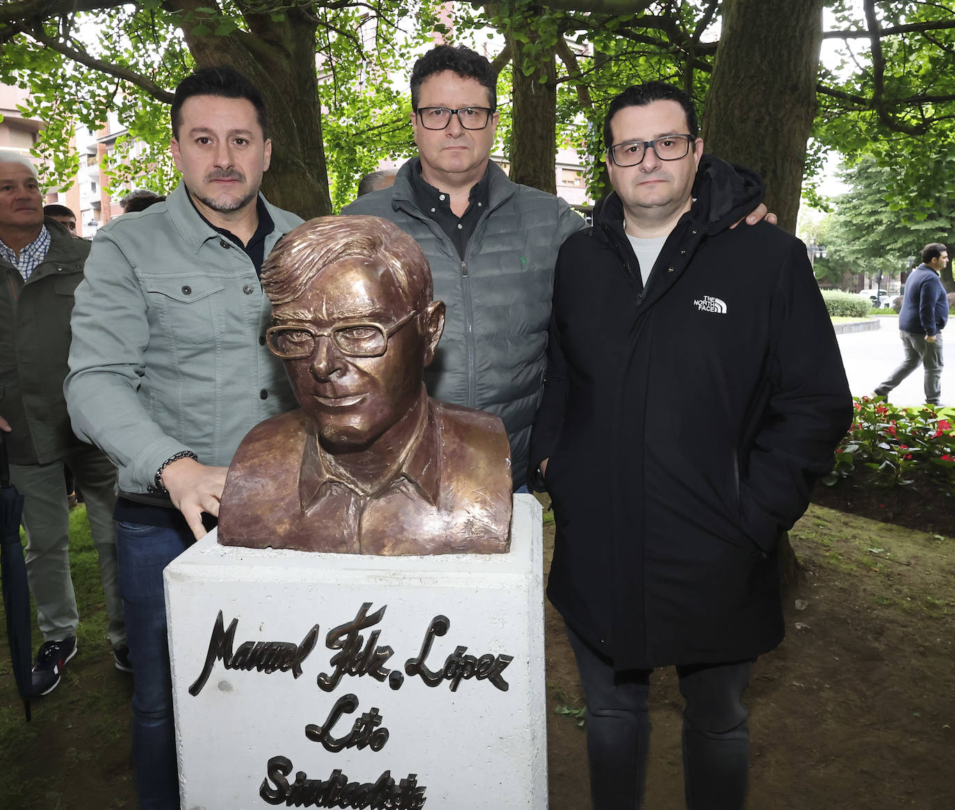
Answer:
<svg viewBox="0 0 955 810"><path fill-rule="evenodd" d="M792 541L805 581L786 598L786 641L759 660L747 693L748 807L950 810L955 540L814 506ZM553 527L545 526L546 565L552 544ZM74 556L74 565L82 564ZM101 610L101 596L80 598L84 616ZM584 730L576 716L584 704L562 622L546 610L550 808L586 810ZM2 810L136 806L131 683L101 647L80 638L64 684L34 703L30 724L22 720L7 653L0 655ZM646 806L678 810L682 703L672 671L655 673L651 707ZM509 807L506 799L500 806Z"/></svg>

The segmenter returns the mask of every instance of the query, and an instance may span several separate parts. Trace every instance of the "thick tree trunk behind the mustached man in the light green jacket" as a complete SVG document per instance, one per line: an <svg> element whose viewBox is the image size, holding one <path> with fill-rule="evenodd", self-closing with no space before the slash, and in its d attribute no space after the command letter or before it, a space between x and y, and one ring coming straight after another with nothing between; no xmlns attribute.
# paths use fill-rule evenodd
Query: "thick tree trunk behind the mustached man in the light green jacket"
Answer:
<svg viewBox="0 0 955 810"><path fill-rule="evenodd" d="M265 98L272 161L262 181L268 202L300 217L332 213L315 75L315 23L290 8L281 21L246 16L249 32L193 36L184 30L199 67L231 65Z"/></svg>

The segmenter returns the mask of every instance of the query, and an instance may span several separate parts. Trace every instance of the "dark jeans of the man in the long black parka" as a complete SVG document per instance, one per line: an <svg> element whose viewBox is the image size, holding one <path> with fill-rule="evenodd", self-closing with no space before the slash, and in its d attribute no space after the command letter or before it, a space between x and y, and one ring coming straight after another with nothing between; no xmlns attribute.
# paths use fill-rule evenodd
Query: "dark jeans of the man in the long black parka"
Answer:
<svg viewBox="0 0 955 810"><path fill-rule="evenodd" d="M613 663L572 629L587 701L587 758L594 810L639 810L647 774L652 670L614 671ZM690 810L742 810L750 765L741 700L752 661L677 667L683 713L683 779Z"/></svg>

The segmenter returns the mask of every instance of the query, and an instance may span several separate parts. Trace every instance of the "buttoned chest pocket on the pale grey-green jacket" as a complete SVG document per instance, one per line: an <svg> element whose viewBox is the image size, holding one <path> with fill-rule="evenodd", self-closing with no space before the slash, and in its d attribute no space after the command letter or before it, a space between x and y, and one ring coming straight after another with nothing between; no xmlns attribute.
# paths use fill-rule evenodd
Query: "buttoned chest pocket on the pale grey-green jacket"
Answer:
<svg viewBox="0 0 955 810"><path fill-rule="evenodd" d="M150 305L159 309L164 330L173 342L209 343L222 332L220 293L216 279L159 279L146 283Z"/></svg>

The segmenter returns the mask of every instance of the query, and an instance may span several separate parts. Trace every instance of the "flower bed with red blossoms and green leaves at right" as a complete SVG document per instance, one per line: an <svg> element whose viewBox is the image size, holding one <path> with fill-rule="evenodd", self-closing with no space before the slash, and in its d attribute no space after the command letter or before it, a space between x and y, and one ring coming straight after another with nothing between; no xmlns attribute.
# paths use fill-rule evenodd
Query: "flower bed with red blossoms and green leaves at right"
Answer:
<svg viewBox="0 0 955 810"><path fill-rule="evenodd" d="M855 398L856 414L836 451L833 471L822 479L832 485L859 466L875 471L885 486L910 484L923 473L955 489L955 412L932 405L899 408L883 396Z"/></svg>

